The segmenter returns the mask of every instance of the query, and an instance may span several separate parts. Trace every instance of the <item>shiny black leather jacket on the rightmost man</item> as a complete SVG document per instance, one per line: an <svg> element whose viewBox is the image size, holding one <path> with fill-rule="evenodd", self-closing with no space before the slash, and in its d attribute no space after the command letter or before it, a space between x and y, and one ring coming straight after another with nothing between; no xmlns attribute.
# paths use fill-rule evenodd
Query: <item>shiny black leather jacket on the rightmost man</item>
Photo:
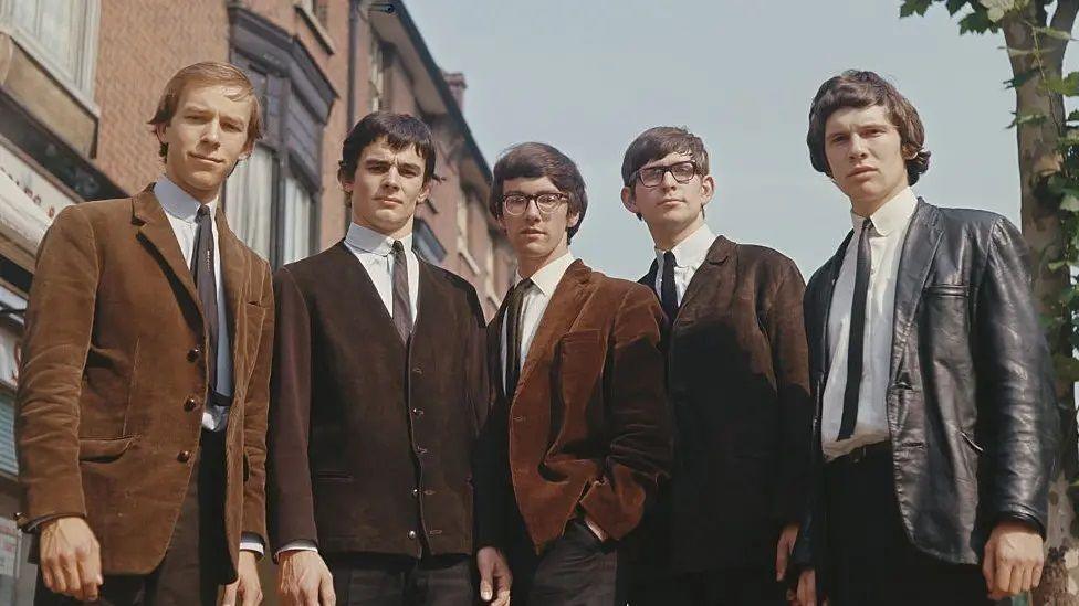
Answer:
<svg viewBox="0 0 1079 606"><path fill-rule="evenodd" d="M804 299L815 481L795 546L798 566L826 566L820 406L828 310L847 241ZM1049 354L1018 230L1003 216L919 200L895 287L888 427L892 475L913 544L976 564L1003 518L1046 528L1059 417Z"/></svg>

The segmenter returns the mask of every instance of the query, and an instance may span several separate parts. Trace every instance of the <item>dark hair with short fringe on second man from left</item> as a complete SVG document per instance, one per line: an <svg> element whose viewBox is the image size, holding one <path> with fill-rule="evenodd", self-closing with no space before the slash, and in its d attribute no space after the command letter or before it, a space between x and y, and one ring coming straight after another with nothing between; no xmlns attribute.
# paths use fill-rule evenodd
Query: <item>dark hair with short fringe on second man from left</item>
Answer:
<svg viewBox="0 0 1079 606"><path fill-rule="evenodd" d="M423 159L423 183L436 178L434 137L423 120L409 114L373 111L356 123L348 137L345 137L345 143L341 147L341 161L337 163L337 179L352 181L364 150L381 138L386 139L386 145L394 151L415 146L416 152Z"/></svg>

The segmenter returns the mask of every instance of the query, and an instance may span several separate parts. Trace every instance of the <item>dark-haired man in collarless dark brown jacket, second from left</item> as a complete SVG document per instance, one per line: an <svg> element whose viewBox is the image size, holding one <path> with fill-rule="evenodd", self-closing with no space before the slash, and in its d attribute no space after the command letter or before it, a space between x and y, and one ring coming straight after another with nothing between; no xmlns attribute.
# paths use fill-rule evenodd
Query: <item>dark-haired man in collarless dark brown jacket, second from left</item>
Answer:
<svg viewBox="0 0 1079 606"><path fill-rule="evenodd" d="M434 179L419 119L345 139L345 238L274 277L270 534L286 604L472 604L472 456L486 416L472 286L412 252Z"/></svg>

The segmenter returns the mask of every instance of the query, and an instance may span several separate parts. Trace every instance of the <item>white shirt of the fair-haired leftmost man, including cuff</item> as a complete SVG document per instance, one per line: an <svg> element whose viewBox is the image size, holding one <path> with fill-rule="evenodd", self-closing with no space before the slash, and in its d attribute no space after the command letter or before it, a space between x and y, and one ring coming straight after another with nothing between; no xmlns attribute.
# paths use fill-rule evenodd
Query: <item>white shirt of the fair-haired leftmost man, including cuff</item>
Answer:
<svg viewBox="0 0 1079 606"><path fill-rule="evenodd" d="M189 193L181 190L164 174L154 183L154 196L165 209L165 216L172 226L176 241L180 245L180 253L188 267L195 254L195 236L199 226L195 222L196 213L202 204ZM224 276L221 275L221 236L218 233L217 210L220 198L214 198L207 204L210 209L213 232L213 277L218 283L218 374L217 385L213 387L221 395L232 395L232 349L229 347L229 329L226 312L228 299L224 298ZM211 432L224 430L229 419L229 408L207 403L202 411L202 427ZM262 539L258 534L248 532L240 535L240 549L262 554L265 551Z"/></svg>

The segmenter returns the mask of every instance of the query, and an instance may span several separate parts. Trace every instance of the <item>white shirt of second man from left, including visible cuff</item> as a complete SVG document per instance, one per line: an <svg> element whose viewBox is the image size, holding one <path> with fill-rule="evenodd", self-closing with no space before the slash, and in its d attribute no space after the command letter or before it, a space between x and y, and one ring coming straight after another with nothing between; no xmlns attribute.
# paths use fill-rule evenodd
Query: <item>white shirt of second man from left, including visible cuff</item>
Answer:
<svg viewBox="0 0 1079 606"><path fill-rule="evenodd" d="M405 266L408 269L408 298L412 308L412 322L415 326L417 304L420 291L420 262L412 252L412 234L401 237L401 245L405 247ZM367 269L378 290L386 312L390 318L394 317L394 238L380 234L374 230L350 223L348 232L345 234L345 246L356 255L359 263ZM286 551L318 551L315 543L306 539L292 541L277 550L277 555Z"/></svg>

